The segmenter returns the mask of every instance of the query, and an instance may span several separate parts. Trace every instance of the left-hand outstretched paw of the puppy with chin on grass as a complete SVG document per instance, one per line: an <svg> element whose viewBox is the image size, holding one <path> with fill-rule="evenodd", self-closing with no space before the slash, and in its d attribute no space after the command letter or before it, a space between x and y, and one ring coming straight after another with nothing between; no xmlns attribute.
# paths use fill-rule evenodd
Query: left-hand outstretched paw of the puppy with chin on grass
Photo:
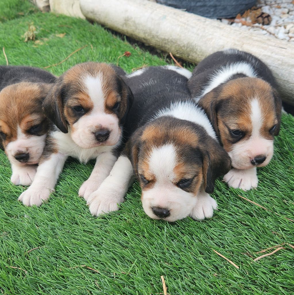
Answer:
<svg viewBox="0 0 294 295"><path fill-rule="evenodd" d="M99 189L91 194L88 205L93 216L117 211L124 201L124 194L113 189L111 183L103 182Z"/></svg>

